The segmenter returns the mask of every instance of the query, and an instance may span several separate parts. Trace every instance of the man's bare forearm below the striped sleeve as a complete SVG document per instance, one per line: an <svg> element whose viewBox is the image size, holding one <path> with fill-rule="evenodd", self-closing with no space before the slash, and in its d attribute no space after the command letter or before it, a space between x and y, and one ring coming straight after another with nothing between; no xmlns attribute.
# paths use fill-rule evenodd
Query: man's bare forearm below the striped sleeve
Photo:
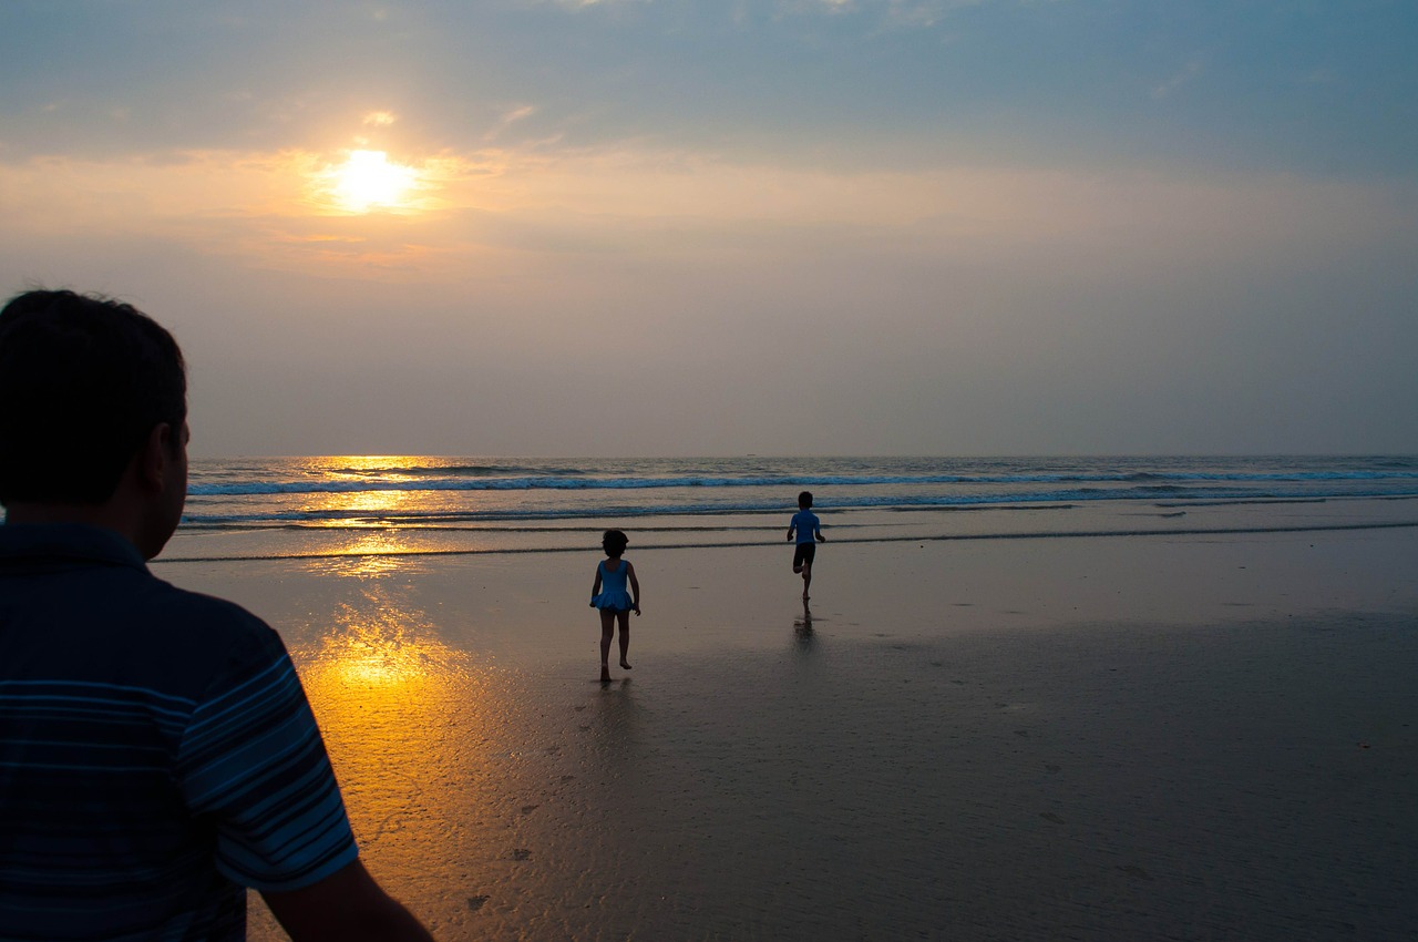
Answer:
<svg viewBox="0 0 1418 942"><path fill-rule="evenodd" d="M291 942L432 942L357 860L315 885L261 898Z"/></svg>

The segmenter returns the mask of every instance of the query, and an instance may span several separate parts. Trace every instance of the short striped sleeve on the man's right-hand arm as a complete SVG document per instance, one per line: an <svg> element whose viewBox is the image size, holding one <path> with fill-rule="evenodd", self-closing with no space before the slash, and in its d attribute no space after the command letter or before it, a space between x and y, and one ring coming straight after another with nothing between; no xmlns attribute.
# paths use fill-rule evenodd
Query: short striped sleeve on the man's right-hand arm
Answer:
<svg viewBox="0 0 1418 942"><path fill-rule="evenodd" d="M265 624L208 685L177 768L189 809L216 824L217 868L241 885L301 890L359 855L301 678Z"/></svg>

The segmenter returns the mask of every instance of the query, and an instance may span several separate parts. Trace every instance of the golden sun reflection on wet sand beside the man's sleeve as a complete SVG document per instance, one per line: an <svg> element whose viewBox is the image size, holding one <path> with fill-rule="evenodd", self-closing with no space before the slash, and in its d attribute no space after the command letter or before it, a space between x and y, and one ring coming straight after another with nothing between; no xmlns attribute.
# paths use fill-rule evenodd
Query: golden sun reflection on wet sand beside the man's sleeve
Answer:
<svg viewBox="0 0 1418 942"><path fill-rule="evenodd" d="M488 816L479 782L508 705L495 671L445 644L387 583L360 594L292 654L372 870L435 888L448 874L434 861L457 857L465 823Z"/></svg>

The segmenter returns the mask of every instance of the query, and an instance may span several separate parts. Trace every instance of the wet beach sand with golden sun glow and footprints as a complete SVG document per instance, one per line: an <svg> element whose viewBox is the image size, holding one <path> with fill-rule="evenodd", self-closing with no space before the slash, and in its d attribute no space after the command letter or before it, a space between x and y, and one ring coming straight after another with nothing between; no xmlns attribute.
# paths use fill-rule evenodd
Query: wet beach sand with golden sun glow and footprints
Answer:
<svg viewBox="0 0 1418 942"><path fill-rule="evenodd" d="M155 570L282 633L442 939L1418 935L1418 529L627 558L610 685L591 549Z"/></svg>

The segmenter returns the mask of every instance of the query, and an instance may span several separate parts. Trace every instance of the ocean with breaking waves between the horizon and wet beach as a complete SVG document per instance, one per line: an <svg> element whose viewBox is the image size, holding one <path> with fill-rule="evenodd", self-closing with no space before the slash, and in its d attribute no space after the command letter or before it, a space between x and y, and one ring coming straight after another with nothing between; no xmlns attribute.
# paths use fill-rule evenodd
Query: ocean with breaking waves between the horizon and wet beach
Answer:
<svg viewBox="0 0 1418 942"><path fill-rule="evenodd" d="M1351 529L1418 518L1418 455L199 460L164 559L757 545L803 489L830 541Z"/></svg>

